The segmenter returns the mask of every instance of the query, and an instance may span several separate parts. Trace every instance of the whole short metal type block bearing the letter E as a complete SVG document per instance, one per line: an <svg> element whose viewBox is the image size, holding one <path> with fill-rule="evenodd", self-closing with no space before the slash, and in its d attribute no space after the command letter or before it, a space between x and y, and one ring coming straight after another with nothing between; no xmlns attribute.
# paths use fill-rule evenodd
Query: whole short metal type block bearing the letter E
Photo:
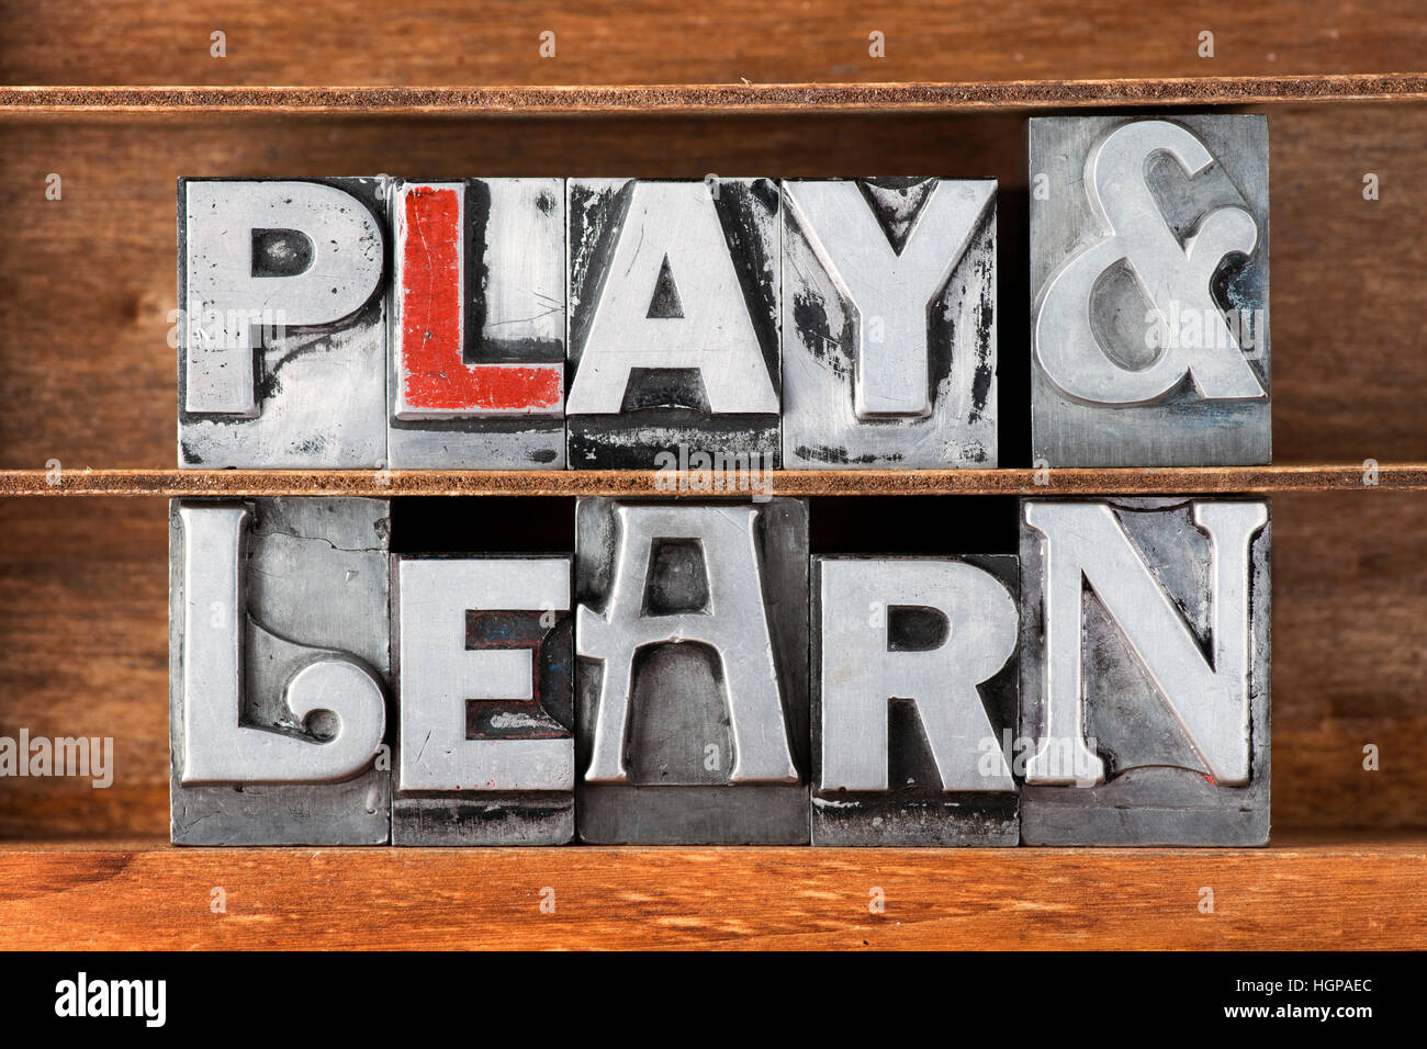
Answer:
<svg viewBox="0 0 1427 1049"><path fill-rule="evenodd" d="M568 557L398 557L394 845L575 836Z"/></svg>

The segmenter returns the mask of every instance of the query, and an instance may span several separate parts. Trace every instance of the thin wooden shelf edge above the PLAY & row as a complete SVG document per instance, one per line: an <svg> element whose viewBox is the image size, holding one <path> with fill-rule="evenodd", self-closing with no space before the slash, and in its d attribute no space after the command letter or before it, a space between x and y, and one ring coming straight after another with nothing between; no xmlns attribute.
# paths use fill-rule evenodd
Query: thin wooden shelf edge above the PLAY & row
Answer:
<svg viewBox="0 0 1427 1049"><path fill-rule="evenodd" d="M1015 80L923 84L628 84L609 87L0 87L0 117L263 113L270 116L574 116L873 113L1423 101L1427 76Z"/></svg>

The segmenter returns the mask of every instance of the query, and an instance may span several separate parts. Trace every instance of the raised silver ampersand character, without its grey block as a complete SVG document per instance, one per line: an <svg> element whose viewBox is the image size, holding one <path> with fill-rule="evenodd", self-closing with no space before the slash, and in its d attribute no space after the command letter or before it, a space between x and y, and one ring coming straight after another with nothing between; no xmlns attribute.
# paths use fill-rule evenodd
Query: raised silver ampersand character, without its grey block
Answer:
<svg viewBox="0 0 1427 1049"><path fill-rule="evenodd" d="M1259 227L1244 208L1220 207L1180 244L1144 177L1156 153L1170 154L1189 177L1214 163L1193 133L1166 120L1124 124L1090 151L1086 197L1106 235L1069 258L1046 285L1032 333L1036 360L1062 392L1092 404L1154 401L1184 375L1204 400L1263 400L1267 391L1210 294L1219 263L1230 253L1250 254ZM1187 345L1160 340L1157 355L1142 368L1113 360L1095 333L1090 305L1102 274L1122 261L1153 303L1147 334L1193 313L1203 318L1202 338Z"/></svg>

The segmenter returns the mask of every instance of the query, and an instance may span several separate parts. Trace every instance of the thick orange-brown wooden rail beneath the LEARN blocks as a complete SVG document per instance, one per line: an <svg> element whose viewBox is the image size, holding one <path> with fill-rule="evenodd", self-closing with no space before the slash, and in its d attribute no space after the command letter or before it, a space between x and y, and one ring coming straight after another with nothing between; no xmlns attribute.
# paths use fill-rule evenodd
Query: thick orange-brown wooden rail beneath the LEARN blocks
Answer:
<svg viewBox="0 0 1427 1049"><path fill-rule="evenodd" d="M1424 878L1421 835L1257 851L11 848L0 926L11 949L90 951L1406 949L1427 933Z"/></svg>

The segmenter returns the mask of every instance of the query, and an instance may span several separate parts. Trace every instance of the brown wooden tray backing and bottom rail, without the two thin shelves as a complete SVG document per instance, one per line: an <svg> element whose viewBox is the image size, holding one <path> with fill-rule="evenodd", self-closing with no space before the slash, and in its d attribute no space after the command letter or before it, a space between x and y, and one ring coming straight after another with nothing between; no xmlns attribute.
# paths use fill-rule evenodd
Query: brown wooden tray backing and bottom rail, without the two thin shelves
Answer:
<svg viewBox="0 0 1427 1049"><path fill-rule="evenodd" d="M538 54L547 29L557 33L551 60ZM1212 60L1196 53L1206 29L1216 36ZM227 33L228 57L210 57L213 30ZM872 30L886 34L886 59L868 56ZM0 3L0 84L1013 81L1424 69L1420 0L611 0L558 10L515 0L200 0L161 10L150 0ZM1427 104L1254 108L1269 113L1271 140L1274 461L1421 462ZM1002 461L1025 465L1025 117L0 113L0 468L174 464L166 338L178 176L372 173L995 176ZM44 197L50 173L63 178L60 201ZM1363 200L1366 173L1378 176L1377 201ZM0 781L0 839L11 842L0 849L0 925L36 946L267 946L298 932L307 946L1420 945L1424 511L1420 491L1274 498L1276 843L1267 852L862 859L565 849L537 861L519 851L153 849L167 836L168 805L166 502L0 498L0 735L21 726L113 735L117 751L107 791L74 779ZM1377 772L1363 769L1366 744L1380 748ZM41 839L60 845L20 843ZM801 881L791 892L793 863ZM866 915L872 869L889 886L885 921ZM558 919L535 919L535 893L549 879L568 903ZM237 921L208 921L211 883L243 901ZM1197 919L1204 883L1236 886L1224 921ZM362 918L378 912L381 931L362 931Z"/></svg>

